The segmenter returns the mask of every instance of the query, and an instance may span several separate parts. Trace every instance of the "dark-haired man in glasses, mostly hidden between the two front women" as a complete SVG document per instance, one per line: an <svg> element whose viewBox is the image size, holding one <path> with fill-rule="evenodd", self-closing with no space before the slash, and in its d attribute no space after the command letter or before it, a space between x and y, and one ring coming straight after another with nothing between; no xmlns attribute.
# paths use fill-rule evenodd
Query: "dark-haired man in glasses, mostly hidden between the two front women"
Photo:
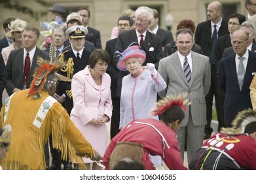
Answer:
<svg viewBox="0 0 256 183"><path fill-rule="evenodd" d="M130 16L121 16L117 21L117 27L119 29L119 34L133 29L134 21ZM111 62L107 67L107 74L111 77L111 99L113 105L112 118L111 118L111 127L110 127L110 138L113 139L117 133L119 133L119 122L120 122L120 96L117 95L117 82L119 76L119 69L114 63L114 54L115 54L115 45L117 39L111 39L106 42L105 51L109 53Z"/></svg>

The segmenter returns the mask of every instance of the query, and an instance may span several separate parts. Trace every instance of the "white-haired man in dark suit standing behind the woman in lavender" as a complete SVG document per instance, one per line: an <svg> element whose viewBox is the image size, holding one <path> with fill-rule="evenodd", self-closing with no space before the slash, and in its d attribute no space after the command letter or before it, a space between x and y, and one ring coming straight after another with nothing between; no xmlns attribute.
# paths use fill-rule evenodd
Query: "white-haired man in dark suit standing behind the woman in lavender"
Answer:
<svg viewBox="0 0 256 183"><path fill-rule="evenodd" d="M135 29L120 33L115 46L115 64L119 61L120 53L122 53L131 43L137 42L147 54L143 65L147 63L154 63L155 68L158 69L159 60L163 58L162 40L157 35L150 33L147 27L153 20L153 10L149 7L139 7L136 12ZM119 72L119 80L117 86L117 95L120 96L122 78L128 75L128 71Z"/></svg>

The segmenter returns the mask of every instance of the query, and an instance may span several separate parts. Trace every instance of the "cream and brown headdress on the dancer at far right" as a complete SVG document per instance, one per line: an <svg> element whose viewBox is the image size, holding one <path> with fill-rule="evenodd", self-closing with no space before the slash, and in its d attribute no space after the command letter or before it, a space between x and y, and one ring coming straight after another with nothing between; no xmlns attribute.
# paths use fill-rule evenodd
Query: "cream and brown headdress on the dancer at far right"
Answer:
<svg viewBox="0 0 256 183"><path fill-rule="evenodd" d="M238 112L236 118L232 121L232 127L223 127L221 133L230 135L239 135L244 133L246 125L256 122L256 112L251 108Z"/></svg>

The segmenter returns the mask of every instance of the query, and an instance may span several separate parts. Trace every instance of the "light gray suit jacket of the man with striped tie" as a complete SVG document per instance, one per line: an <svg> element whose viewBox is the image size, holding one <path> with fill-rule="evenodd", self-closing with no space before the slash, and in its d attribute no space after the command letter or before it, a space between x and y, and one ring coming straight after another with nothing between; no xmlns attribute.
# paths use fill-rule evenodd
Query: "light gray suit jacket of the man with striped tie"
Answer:
<svg viewBox="0 0 256 183"><path fill-rule="evenodd" d="M185 77L183 67L179 61L177 52L160 59L158 73L164 78L167 88L159 92L160 97L166 95L187 93L187 99L191 101L192 122L194 125L206 125L206 94L211 84L211 67L209 58L192 52L191 86ZM181 127L187 125L189 110L185 111L185 119Z"/></svg>

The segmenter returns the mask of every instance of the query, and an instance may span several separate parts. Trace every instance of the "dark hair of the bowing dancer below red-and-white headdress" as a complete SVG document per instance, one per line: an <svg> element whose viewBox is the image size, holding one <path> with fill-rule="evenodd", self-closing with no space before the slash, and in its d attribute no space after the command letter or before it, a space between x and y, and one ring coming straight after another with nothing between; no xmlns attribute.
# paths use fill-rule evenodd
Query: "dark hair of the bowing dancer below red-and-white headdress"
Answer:
<svg viewBox="0 0 256 183"><path fill-rule="evenodd" d="M175 122L176 120L179 120L180 124L181 121L185 118L185 113L182 108L180 108L177 105L174 105L168 108L166 111L164 111L164 113L162 113L161 115L161 118L166 125Z"/></svg>

